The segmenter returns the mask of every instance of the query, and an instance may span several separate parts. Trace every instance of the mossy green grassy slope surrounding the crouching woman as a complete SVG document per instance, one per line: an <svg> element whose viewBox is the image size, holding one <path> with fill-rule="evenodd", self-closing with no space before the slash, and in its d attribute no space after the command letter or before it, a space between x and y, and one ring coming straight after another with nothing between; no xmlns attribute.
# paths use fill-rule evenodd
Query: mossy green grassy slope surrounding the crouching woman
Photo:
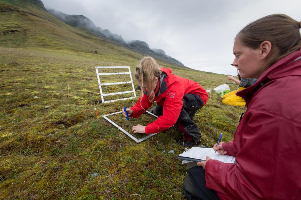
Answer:
<svg viewBox="0 0 301 200"><path fill-rule="evenodd" d="M0 2L0 199L184 199L186 166L175 158L182 153L180 133L170 128L137 144L100 116L137 99L102 104L95 66L133 72L143 55L70 27L36 4L7 3ZM159 64L205 89L226 82L223 75ZM212 146L220 132L224 142L231 140L241 112L210 93L194 117L202 144ZM126 128L124 119L116 120ZM175 154L167 153L172 149Z"/></svg>

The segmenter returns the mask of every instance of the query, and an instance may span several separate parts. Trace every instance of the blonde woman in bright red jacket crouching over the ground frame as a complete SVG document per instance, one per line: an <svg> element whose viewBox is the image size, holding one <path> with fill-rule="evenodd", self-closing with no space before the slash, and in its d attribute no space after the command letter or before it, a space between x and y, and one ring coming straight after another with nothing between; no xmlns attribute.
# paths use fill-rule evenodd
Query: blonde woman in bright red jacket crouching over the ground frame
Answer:
<svg viewBox="0 0 301 200"><path fill-rule="evenodd" d="M175 125L184 133L185 146L197 145L201 134L191 117L206 104L208 94L197 82L171 73L171 69L161 68L154 58L144 57L140 61L135 78L142 94L138 102L126 111L129 117L138 118L156 101L158 106L152 112L159 117L146 127L140 124L133 126L132 131L158 133ZM123 115L126 116L124 110Z"/></svg>

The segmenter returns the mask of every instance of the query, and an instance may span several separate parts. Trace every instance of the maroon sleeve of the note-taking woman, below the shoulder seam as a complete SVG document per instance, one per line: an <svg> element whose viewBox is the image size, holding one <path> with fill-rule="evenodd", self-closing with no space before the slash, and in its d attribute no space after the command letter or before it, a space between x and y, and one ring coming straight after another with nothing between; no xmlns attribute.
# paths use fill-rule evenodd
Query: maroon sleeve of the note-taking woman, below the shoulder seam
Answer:
<svg viewBox="0 0 301 200"><path fill-rule="evenodd" d="M265 110L250 109L239 141L236 162L208 160L206 187L220 199L296 199L301 196L301 126ZM281 129L281 127L285 127ZM239 127L238 127L239 129Z"/></svg>

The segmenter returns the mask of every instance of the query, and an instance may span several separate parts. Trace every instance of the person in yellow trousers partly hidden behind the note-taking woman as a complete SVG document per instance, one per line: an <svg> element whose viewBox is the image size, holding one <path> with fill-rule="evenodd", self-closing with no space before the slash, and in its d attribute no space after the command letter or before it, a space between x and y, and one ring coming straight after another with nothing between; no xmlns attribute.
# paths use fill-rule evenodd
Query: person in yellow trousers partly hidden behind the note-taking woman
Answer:
<svg viewBox="0 0 301 200"><path fill-rule="evenodd" d="M231 65L233 65L233 64L231 64ZM233 66L237 67L235 65L233 65ZM236 96L236 92L246 89L247 87L250 87L251 85L253 85L256 82L257 79L241 79L240 75L237 75L237 76L238 76L238 80L233 76L230 76L230 75L227 76L228 80L232 80L238 85L238 89L231 91L227 94L224 94L223 95L224 99L222 100L222 103L227 104L227 105L244 107L246 105L246 101L243 98Z"/></svg>

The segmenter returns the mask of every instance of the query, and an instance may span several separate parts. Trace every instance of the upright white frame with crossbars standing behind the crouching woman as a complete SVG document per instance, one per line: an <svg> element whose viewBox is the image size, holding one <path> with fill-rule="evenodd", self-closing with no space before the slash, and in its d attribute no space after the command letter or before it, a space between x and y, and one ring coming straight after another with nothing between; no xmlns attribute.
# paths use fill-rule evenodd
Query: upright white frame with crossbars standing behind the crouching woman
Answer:
<svg viewBox="0 0 301 200"><path fill-rule="evenodd" d="M129 72L98 73L98 69L110 69L110 68L128 68ZM98 80L98 85L99 85L99 90L100 90L100 95L101 95L101 101L102 101L102 103L110 103L110 102L114 102L114 101L118 101L118 100L126 100L126 99L136 98L136 92L135 92L135 87L134 87L134 83L133 83L133 79L132 79L132 73L131 73L131 69L130 69L129 66L95 67L95 69L96 69L97 80ZM130 78L131 78L131 81L114 82L114 83L100 83L99 76L103 76L103 75L116 75L116 74L129 74ZM132 83L133 90L131 90L131 91L124 91L124 92L107 93L107 94L103 94L102 93L102 89L101 89L102 85L117 85L117 84L126 84L126 83ZM127 98L123 98L123 99L115 99L115 100L110 100L110 101L104 101L104 96L116 95L116 94L126 94L126 93L132 93L132 92L134 93L134 97L127 97Z"/></svg>

